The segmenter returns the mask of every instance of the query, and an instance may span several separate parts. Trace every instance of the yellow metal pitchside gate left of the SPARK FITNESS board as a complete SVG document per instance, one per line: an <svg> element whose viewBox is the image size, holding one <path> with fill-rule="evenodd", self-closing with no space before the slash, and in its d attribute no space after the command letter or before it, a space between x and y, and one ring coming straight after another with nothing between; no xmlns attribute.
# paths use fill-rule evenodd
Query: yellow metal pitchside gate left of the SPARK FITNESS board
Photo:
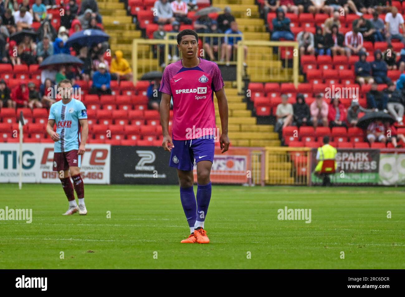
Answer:
<svg viewBox="0 0 405 297"><path fill-rule="evenodd" d="M311 148L265 148L264 180L269 185L308 185Z"/></svg>

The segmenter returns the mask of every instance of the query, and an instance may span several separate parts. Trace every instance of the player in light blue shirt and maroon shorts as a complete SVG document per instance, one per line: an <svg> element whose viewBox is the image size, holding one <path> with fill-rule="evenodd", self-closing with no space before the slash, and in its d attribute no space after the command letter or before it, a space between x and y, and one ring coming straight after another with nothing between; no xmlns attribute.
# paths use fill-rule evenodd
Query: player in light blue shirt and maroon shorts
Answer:
<svg viewBox="0 0 405 297"><path fill-rule="evenodd" d="M80 166L89 132L87 111L83 102L72 98L72 84L69 80L64 79L59 83L58 93L61 94L62 100L51 105L47 125L47 133L55 141L53 171L60 173L60 181L69 201L69 209L65 215L77 211L84 215L87 214L87 209L84 204L84 185L80 176ZM55 124L56 132L53 131ZM74 191L79 199L79 206L76 204Z"/></svg>

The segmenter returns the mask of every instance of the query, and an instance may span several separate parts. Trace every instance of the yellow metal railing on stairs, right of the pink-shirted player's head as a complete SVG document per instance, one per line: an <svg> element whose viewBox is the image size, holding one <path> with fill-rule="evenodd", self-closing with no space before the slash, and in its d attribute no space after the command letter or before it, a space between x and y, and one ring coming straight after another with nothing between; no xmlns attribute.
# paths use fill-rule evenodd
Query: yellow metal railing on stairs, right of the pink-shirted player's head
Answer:
<svg viewBox="0 0 405 297"><path fill-rule="evenodd" d="M247 67L243 66L244 47L247 47ZM282 58L282 55L284 57ZM292 68L289 67L292 59ZM298 87L298 42L240 40L237 49L237 87L243 92L243 78L250 81L292 81Z"/></svg>

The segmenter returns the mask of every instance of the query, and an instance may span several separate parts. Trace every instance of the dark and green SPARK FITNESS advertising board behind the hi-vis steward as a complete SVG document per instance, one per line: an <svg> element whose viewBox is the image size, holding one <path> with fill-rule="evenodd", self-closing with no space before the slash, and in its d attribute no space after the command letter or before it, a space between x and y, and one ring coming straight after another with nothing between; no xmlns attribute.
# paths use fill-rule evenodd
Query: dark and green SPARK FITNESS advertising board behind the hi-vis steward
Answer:
<svg viewBox="0 0 405 297"><path fill-rule="evenodd" d="M316 160L317 149L311 151L312 184L322 184L313 171L318 161ZM337 149L335 174L330 174L330 181L334 184L371 184L376 185L379 181L379 150L375 149Z"/></svg>

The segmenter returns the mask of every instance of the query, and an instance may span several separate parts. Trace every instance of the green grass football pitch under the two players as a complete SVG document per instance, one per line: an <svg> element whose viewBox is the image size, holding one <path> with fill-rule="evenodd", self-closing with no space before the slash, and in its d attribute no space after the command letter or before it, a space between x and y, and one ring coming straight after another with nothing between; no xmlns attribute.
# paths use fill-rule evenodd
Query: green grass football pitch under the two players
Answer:
<svg viewBox="0 0 405 297"><path fill-rule="evenodd" d="M32 223L0 221L0 268L404 269L404 197L403 187L213 185L211 242L180 244L177 186L85 185L87 216L62 216L60 184L1 184L0 208L32 208ZM286 206L311 209L311 223L277 219Z"/></svg>

